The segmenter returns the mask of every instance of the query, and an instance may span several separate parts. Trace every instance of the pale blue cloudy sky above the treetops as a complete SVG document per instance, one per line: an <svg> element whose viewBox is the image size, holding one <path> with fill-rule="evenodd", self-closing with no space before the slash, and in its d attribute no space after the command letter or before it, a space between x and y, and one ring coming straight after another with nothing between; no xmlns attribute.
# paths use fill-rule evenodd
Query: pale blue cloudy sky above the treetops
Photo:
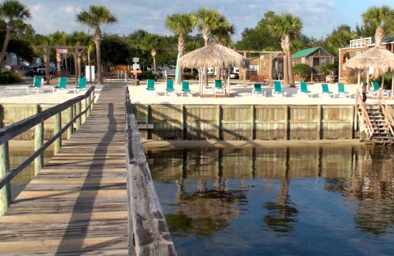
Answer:
<svg viewBox="0 0 394 256"><path fill-rule="evenodd" d="M87 31L75 21L76 14L88 10L92 4L107 6L118 23L102 26L108 33L127 35L143 29L160 35L171 35L164 28L166 15L185 13L204 6L218 9L236 27L233 41L241 39L245 28L255 28L267 11L277 14L290 12L301 17L302 33L315 38L325 37L338 25L352 29L361 24L361 13L371 5L388 4L394 0L19 0L32 11L33 18L25 21L36 33L56 31ZM91 31L92 33L92 31ZM195 34L194 32L193 34Z"/></svg>

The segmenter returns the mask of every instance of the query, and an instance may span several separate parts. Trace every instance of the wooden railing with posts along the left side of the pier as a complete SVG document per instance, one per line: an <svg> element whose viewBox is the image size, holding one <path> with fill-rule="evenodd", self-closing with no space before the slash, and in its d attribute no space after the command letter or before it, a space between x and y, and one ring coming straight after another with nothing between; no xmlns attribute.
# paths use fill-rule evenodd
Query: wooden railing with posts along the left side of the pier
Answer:
<svg viewBox="0 0 394 256"><path fill-rule="evenodd" d="M43 167L43 152L54 143L55 154L62 146L61 136L67 132L67 138L72 135L73 124L78 129L85 122L94 105L95 87L92 86L81 96L69 99L66 102L38 112L9 126L0 128L0 217L7 211L11 203L10 181L34 161L34 176ZM75 114L74 113L75 108ZM62 111L67 113L68 123L61 127ZM54 135L43 143L44 121L54 117ZM8 141L19 134L34 128L34 152L14 169L9 170Z"/></svg>

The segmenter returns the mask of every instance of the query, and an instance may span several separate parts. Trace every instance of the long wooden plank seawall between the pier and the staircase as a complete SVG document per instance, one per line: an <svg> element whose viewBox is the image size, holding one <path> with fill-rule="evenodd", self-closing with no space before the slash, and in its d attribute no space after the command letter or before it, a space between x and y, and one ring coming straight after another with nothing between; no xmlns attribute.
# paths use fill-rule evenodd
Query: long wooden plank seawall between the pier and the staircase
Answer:
<svg viewBox="0 0 394 256"><path fill-rule="evenodd" d="M350 139L353 105L142 105L134 104L147 139ZM358 127L358 126L356 126Z"/></svg>

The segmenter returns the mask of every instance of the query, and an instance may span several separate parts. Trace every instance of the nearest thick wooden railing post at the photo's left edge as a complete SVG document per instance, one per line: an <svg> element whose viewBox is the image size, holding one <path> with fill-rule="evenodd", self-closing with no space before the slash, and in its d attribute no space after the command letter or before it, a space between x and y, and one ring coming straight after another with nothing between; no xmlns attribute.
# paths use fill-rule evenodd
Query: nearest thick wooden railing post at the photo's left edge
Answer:
<svg viewBox="0 0 394 256"><path fill-rule="evenodd" d="M1 120L1 111L0 111ZM1 122L0 122L1 127ZM0 145L0 179L9 172L8 142ZM11 203L9 183L0 190L0 217L7 211Z"/></svg>

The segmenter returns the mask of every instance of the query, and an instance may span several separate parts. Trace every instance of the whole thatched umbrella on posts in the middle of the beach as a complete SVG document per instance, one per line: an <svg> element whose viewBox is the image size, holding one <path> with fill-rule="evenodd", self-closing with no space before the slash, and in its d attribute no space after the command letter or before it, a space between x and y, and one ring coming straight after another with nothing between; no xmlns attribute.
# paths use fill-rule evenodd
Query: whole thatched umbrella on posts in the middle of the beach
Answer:
<svg viewBox="0 0 394 256"><path fill-rule="evenodd" d="M220 67L223 70L224 67L230 68L234 66L248 68L249 60L233 49L217 43L213 43L183 55L179 59L178 65L185 67L194 67L197 69L203 67ZM202 74L200 72L200 93L202 88L201 78ZM228 88L229 90L227 93L230 94L230 72L228 73Z"/></svg>

